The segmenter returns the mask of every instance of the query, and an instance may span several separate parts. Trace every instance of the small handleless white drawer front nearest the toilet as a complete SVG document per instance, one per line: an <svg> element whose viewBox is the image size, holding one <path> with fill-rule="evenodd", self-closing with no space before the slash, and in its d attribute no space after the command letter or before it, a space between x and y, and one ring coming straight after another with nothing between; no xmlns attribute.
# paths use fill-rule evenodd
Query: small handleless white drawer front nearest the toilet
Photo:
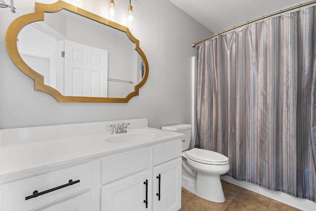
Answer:
<svg viewBox="0 0 316 211"><path fill-rule="evenodd" d="M181 157L181 139L157 145L153 148L153 165Z"/></svg>

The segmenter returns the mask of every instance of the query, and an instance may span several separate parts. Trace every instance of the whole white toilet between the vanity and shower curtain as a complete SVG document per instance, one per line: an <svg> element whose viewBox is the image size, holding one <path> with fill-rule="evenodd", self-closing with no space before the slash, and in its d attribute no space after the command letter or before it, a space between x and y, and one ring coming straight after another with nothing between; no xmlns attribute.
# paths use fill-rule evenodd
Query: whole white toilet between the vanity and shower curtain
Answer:
<svg viewBox="0 0 316 211"><path fill-rule="evenodd" d="M182 140L182 187L211 202L223 203L225 197L220 175L229 170L229 159L217 152L190 147L191 125L163 126L161 129L184 133Z"/></svg>

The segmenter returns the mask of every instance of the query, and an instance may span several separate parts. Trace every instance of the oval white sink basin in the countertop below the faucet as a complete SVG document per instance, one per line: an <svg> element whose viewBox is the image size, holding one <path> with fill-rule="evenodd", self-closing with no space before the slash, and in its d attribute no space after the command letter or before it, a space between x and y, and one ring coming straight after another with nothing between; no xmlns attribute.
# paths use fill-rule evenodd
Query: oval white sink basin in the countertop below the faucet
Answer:
<svg viewBox="0 0 316 211"><path fill-rule="evenodd" d="M126 133L120 134L99 135L95 137L95 139L102 140L107 143L137 143L156 138L159 134L161 133L155 130L130 130Z"/></svg>

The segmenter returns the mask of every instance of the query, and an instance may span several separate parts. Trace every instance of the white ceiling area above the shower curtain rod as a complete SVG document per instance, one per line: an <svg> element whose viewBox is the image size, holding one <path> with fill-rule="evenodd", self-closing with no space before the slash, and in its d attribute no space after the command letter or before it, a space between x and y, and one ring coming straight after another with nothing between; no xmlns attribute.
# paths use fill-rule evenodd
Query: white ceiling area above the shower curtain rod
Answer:
<svg viewBox="0 0 316 211"><path fill-rule="evenodd" d="M213 33L310 0L170 0Z"/></svg>

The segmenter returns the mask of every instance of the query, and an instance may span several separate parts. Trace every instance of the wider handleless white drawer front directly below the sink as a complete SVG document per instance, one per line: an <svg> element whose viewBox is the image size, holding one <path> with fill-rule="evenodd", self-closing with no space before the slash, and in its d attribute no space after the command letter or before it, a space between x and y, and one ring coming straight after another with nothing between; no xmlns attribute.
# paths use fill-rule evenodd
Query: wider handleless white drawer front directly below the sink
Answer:
<svg viewBox="0 0 316 211"><path fill-rule="evenodd" d="M137 150L101 161L102 183L130 175L148 167L149 150Z"/></svg>

